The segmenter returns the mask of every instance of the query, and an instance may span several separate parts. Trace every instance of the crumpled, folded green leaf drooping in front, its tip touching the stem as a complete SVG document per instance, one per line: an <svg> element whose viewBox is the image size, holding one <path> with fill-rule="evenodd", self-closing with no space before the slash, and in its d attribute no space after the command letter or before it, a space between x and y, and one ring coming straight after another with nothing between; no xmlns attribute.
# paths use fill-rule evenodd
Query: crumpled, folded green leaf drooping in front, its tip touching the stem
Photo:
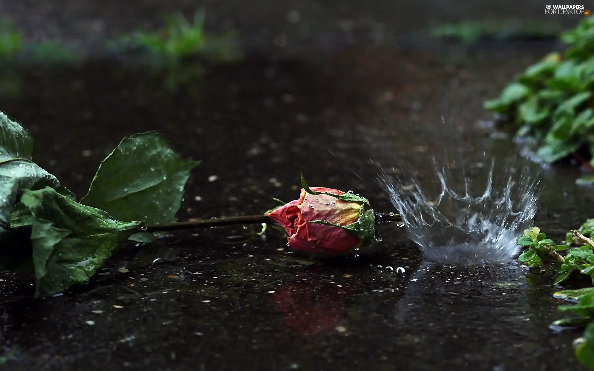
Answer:
<svg viewBox="0 0 594 371"><path fill-rule="evenodd" d="M87 282L113 250L143 226L142 221L115 220L50 187L25 191L20 204L31 215L36 297Z"/></svg>

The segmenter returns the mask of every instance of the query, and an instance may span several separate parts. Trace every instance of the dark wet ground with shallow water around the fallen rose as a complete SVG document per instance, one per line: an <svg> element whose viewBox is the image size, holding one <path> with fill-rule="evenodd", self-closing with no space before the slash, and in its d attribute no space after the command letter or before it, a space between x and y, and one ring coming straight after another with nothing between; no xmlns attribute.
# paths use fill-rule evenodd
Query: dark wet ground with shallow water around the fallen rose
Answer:
<svg viewBox="0 0 594 371"><path fill-rule="evenodd" d="M245 61L175 76L97 58L5 72L0 107L33 133L37 163L79 198L122 137L157 130L184 157L203 160L180 220L261 214L272 197L298 198L300 172L312 186L352 189L389 212L379 169L431 182L434 156L459 158L471 177L485 172L485 159L511 163L517 148L494 134L481 104L552 47L358 44L290 57L256 49ZM577 176L540 170L535 224L555 240L591 216L592 191L574 185ZM33 275L0 272L0 341L4 351L18 348L0 367L583 369L571 347L581 332L548 328L560 318L552 274L515 262L438 267L392 225L359 258L333 261L255 232L220 227L129 244L90 284L44 300L31 299Z"/></svg>

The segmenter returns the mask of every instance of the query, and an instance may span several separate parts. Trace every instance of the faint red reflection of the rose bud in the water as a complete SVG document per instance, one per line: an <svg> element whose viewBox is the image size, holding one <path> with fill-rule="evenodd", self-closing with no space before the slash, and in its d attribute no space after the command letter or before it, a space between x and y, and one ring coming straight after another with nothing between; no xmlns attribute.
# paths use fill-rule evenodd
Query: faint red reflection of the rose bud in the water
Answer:
<svg viewBox="0 0 594 371"><path fill-rule="evenodd" d="M315 335L342 316L350 289L291 281L276 290L274 301L285 322L303 335Z"/></svg>

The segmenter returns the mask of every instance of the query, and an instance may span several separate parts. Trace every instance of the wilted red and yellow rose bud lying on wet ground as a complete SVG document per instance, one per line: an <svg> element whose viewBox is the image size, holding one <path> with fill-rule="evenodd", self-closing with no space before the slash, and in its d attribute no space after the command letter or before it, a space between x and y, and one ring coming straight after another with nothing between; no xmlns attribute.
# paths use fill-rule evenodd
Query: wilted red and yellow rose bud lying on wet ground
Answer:
<svg viewBox="0 0 594 371"><path fill-rule="evenodd" d="M266 213L289 234L291 248L336 256L371 243L375 215L367 199L338 189L309 188L303 176L301 185L299 199Z"/></svg>

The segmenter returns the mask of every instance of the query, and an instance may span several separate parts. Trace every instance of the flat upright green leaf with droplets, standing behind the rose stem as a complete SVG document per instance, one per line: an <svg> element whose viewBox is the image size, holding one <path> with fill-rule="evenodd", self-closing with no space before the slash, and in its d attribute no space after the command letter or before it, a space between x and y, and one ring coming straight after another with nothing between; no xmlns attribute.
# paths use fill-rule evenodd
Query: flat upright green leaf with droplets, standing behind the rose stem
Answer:
<svg viewBox="0 0 594 371"><path fill-rule="evenodd" d="M118 220L173 223L185 183L198 163L183 160L156 132L134 134L102 161L80 202Z"/></svg>

